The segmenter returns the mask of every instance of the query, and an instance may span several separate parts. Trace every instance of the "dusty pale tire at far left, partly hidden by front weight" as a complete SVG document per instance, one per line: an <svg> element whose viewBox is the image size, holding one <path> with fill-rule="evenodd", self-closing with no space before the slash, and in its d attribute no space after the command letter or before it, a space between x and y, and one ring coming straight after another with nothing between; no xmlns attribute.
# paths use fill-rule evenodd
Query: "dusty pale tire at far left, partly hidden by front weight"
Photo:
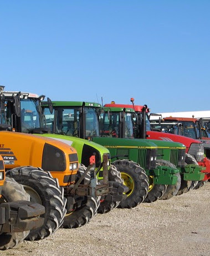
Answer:
<svg viewBox="0 0 210 256"><path fill-rule="evenodd" d="M26 200L29 201L30 196L25 192L23 186L18 184L14 179L6 177L2 187L1 203ZM15 233L0 233L0 250L7 250L16 247L23 242L30 231Z"/></svg>

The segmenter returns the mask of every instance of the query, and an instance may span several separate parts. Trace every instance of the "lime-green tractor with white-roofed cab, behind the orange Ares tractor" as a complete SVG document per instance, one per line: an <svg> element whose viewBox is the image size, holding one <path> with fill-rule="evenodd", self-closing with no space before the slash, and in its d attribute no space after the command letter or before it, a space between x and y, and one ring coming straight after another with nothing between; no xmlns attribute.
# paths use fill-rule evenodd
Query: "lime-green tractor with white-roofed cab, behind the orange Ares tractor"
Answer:
<svg viewBox="0 0 210 256"><path fill-rule="evenodd" d="M64 136L62 131L59 131L58 135L48 134L47 132L49 130L43 126L43 120L45 123L46 119L42 115L42 100L44 100L43 95L38 96L33 93L2 90L1 101L3 102L3 105L6 106L4 111L2 111L1 118L2 120L6 120L7 125L11 126L14 131L37 134L43 137L53 137L54 139L65 142L65 144L73 147L78 153L78 161L80 163L79 170L83 177L81 185L83 186L88 186L88 183L90 182L90 178L86 179L83 173L86 173L86 168L88 168L90 163L89 159L94 155L96 175L98 182L100 183L98 186L101 186L101 190L103 189L103 186L108 185L109 187L109 191L106 195L104 194L101 196L97 212L107 213L116 208L120 201L126 198L125 192L127 187L123 184L119 171L116 170L115 166L111 165L109 150L92 141L79 139L78 137ZM4 128L5 127L3 127L3 129ZM89 174L86 173L85 175ZM80 180L80 178L78 179ZM88 191L88 188L86 190ZM84 193L88 193L87 191ZM85 224L85 221L88 221L87 219L87 216L84 214L81 222ZM78 226L79 225L80 224L78 224Z"/></svg>

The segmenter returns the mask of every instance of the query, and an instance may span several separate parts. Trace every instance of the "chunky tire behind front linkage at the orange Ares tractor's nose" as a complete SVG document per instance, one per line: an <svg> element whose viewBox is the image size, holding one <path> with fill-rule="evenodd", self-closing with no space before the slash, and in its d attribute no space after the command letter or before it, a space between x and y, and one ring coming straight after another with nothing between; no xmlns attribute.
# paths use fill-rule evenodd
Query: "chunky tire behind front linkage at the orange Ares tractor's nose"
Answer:
<svg viewBox="0 0 210 256"><path fill-rule="evenodd" d="M83 175L85 169L86 167L84 165L79 166L78 173L76 174L76 181ZM90 174L87 174L81 184L89 184L89 182ZM83 196L83 198L83 202L78 208L75 208L74 211L65 215L63 228L79 228L87 224L97 214L100 205L100 196L97 198ZM81 196L79 196L78 199L81 200Z"/></svg>

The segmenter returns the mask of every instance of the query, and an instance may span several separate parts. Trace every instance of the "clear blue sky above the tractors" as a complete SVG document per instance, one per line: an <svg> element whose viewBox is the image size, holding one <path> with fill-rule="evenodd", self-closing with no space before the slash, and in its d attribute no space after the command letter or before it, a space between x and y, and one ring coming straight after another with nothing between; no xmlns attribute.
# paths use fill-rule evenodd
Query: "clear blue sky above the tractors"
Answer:
<svg viewBox="0 0 210 256"><path fill-rule="evenodd" d="M0 85L210 110L210 1L0 0Z"/></svg>

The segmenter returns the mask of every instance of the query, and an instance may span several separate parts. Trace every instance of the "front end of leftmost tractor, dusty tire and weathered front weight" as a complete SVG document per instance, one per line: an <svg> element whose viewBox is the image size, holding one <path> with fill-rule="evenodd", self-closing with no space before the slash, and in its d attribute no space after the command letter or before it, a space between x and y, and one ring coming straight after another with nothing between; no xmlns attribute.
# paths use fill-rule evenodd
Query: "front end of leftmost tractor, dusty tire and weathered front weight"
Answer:
<svg viewBox="0 0 210 256"><path fill-rule="evenodd" d="M42 227L45 208L30 202L29 198L21 184L5 178L0 156L0 250L15 247L27 237L30 230Z"/></svg>

